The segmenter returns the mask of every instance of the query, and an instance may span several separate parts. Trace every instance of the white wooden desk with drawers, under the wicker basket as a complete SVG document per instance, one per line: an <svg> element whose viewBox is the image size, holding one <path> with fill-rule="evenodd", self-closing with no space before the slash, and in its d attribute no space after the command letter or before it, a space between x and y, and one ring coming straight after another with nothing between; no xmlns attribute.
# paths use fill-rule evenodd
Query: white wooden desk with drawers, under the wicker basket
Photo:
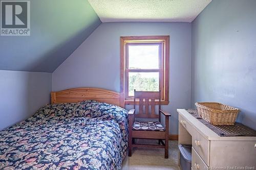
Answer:
<svg viewBox="0 0 256 170"><path fill-rule="evenodd" d="M185 109L177 111L179 144L192 145L191 169L256 169L256 136L219 136Z"/></svg>

